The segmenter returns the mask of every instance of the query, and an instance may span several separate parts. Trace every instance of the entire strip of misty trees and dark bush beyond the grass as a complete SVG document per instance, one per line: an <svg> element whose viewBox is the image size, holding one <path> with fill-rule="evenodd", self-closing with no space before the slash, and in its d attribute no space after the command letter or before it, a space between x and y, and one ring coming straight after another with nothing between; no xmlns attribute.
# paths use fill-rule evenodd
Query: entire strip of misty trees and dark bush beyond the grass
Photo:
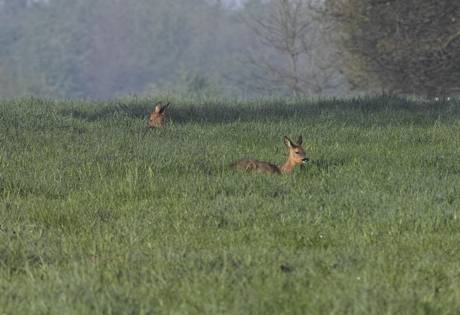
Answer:
<svg viewBox="0 0 460 315"><path fill-rule="evenodd" d="M454 0L0 0L0 98L458 93Z"/></svg>

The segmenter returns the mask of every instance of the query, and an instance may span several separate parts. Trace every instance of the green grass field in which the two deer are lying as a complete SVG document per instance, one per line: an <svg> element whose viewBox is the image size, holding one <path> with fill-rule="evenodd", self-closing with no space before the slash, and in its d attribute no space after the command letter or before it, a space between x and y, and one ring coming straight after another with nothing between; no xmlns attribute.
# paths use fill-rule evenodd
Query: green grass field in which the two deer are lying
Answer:
<svg viewBox="0 0 460 315"><path fill-rule="evenodd" d="M0 102L0 314L460 314L459 99L158 100Z"/></svg>

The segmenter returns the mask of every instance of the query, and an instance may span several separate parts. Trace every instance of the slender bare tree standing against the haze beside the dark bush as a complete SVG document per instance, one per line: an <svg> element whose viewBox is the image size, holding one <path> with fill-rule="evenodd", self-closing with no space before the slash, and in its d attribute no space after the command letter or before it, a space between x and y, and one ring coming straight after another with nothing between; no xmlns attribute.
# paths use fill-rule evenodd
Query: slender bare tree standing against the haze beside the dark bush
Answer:
<svg viewBox="0 0 460 315"><path fill-rule="evenodd" d="M249 86L288 90L294 97L339 86L338 67L311 0L271 0L264 6L265 14L245 18L265 47L247 53L253 77Z"/></svg>

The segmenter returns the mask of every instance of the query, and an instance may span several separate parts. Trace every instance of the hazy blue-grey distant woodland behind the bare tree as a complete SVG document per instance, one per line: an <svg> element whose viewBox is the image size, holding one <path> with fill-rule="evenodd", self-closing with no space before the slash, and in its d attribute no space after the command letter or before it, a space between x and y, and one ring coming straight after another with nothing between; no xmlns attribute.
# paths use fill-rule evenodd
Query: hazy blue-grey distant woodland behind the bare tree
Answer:
<svg viewBox="0 0 460 315"><path fill-rule="evenodd" d="M334 92L330 79L337 71L321 68L330 59L324 58L326 47L318 41L308 41L314 58L305 49L294 56L297 87L269 80L261 89L259 77L265 74L242 62L244 53L269 58L285 69L289 60L285 52L267 49L242 17L257 12L262 20L274 1L247 1L244 6L224 2L0 0L0 98L170 93L250 99L261 93ZM319 28L303 22L311 25L309 36Z"/></svg>

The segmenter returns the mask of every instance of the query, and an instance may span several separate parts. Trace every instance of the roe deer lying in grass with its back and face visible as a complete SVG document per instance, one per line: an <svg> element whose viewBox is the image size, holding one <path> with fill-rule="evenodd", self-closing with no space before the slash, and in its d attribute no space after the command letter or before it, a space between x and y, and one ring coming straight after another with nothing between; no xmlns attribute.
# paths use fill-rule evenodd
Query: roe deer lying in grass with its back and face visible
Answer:
<svg viewBox="0 0 460 315"><path fill-rule="evenodd" d="M258 172L269 172L271 174L281 174L283 172L291 172L296 163L307 163L308 157L305 156L305 151L301 147L302 145L302 136L299 135L299 140L297 140L296 144L293 144L288 137L284 137L284 144L289 148L289 156L288 160L284 165L277 166L275 164L270 164L267 162L261 162L258 160L250 160L250 159L243 159L239 160L236 163L230 165L232 169L242 168L246 169L247 172L252 171L253 169L257 170Z"/></svg>

